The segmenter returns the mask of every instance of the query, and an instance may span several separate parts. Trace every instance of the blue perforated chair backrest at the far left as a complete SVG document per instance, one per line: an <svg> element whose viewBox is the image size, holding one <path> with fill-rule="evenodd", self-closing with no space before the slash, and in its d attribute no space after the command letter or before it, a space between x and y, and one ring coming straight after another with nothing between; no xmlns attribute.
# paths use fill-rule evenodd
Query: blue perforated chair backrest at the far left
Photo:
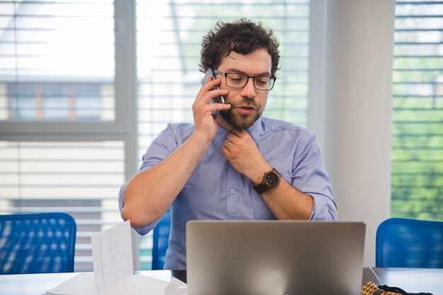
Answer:
<svg viewBox="0 0 443 295"><path fill-rule="evenodd" d="M75 241L67 213L0 215L0 274L74 272Z"/></svg>

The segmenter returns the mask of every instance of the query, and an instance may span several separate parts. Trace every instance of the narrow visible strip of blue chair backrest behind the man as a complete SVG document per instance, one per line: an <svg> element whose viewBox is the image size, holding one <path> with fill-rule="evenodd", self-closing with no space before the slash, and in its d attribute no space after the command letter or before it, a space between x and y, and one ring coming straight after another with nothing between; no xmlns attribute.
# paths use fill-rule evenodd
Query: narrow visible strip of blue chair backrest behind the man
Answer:
<svg viewBox="0 0 443 295"><path fill-rule="evenodd" d="M161 217L154 228L152 244L152 269L163 270L168 249L169 232L171 230L171 214L169 210Z"/></svg>

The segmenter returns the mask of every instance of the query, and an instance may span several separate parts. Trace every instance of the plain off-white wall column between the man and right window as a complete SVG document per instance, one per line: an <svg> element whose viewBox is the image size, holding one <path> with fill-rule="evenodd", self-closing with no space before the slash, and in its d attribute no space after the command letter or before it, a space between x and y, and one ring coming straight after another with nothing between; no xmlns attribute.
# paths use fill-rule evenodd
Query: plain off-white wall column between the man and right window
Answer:
<svg viewBox="0 0 443 295"><path fill-rule="evenodd" d="M312 5L323 18L314 16L321 24L311 23L322 31L311 40L316 62L310 115L323 121L310 128L318 134L333 180L339 220L364 221L364 265L374 266L376 227L390 215L395 1L313 0Z"/></svg>

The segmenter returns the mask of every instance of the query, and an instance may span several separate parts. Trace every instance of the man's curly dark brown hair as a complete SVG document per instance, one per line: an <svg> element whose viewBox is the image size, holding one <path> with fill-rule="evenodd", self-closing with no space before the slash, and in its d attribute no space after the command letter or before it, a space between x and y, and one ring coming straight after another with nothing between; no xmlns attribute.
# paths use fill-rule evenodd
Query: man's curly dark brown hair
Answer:
<svg viewBox="0 0 443 295"><path fill-rule="evenodd" d="M279 69L280 52L279 42L273 34L272 29L263 27L261 22L254 23L246 18L233 23L217 21L214 28L202 38L200 71L217 69L222 63L222 57L227 57L233 51L249 54L265 48L272 59L271 75L275 76Z"/></svg>

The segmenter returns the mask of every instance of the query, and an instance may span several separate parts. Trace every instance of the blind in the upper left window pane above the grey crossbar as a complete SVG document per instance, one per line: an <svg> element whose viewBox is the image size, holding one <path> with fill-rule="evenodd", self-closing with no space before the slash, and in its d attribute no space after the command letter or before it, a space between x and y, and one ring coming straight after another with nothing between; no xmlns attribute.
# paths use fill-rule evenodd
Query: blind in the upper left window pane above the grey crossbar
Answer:
<svg viewBox="0 0 443 295"><path fill-rule="evenodd" d="M0 1L0 120L114 120L112 1Z"/></svg>

